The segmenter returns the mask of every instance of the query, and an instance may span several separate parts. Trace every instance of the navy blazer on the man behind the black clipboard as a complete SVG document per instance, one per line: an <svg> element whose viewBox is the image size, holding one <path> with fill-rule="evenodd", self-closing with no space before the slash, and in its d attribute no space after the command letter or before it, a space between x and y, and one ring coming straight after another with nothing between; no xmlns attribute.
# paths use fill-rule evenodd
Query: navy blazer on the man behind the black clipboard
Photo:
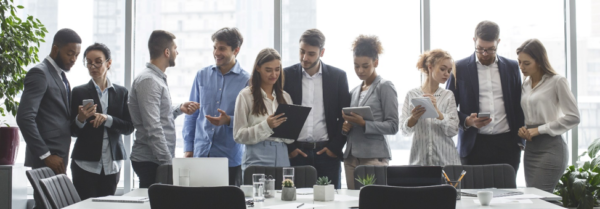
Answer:
<svg viewBox="0 0 600 209"><path fill-rule="evenodd" d="M342 159L342 148L346 144L346 136L342 135L342 108L350 106L348 79L343 70L326 65L321 61L323 70L323 105L325 106L325 124L329 141L326 147ZM292 97L294 104L302 104L302 65L300 63L283 69L285 90ZM288 152L298 148L297 142L288 144Z"/></svg>

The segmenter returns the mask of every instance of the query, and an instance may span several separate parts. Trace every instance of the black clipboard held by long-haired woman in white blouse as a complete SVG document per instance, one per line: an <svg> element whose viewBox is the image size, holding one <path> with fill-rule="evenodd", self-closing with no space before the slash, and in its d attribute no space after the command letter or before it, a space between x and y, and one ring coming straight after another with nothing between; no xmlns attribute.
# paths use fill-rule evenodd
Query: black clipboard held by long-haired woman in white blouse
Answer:
<svg viewBox="0 0 600 209"><path fill-rule="evenodd" d="M273 133L271 137L297 140L311 109L312 107L280 104L279 107L277 107L277 111L275 111L275 115L285 113L283 117L287 117L287 120L281 123L277 128L273 129L275 133Z"/></svg>

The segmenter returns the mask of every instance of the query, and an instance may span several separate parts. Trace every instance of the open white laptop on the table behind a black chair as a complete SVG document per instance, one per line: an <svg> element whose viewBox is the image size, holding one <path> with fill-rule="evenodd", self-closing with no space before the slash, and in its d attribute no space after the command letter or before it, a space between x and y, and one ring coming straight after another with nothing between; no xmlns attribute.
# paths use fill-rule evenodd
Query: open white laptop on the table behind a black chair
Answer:
<svg viewBox="0 0 600 209"><path fill-rule="evenodd" d="M173 158L173 185L188 186L180 183L180 171L188 172L191 187L229 185L229 165L226 157Z"/></svg>

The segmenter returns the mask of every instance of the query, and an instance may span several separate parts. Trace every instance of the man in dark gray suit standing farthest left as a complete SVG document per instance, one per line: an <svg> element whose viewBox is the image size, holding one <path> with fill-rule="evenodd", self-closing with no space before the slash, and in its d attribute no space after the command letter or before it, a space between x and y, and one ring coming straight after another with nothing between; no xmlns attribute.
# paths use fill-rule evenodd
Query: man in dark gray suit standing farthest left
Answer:
<svg viewBox="0 0 600 209"><path fill-rule="evenodd" d="M25 76L25 89L17 114L17 124L27 143L25 166L49 167L65 174L71 145L69 72L81 51L81 38L71 29L54 35L52 50L44 61ZM93 107L95 108L95 107ZM36 208L44 208L39 193L34 191Z"/></svg>

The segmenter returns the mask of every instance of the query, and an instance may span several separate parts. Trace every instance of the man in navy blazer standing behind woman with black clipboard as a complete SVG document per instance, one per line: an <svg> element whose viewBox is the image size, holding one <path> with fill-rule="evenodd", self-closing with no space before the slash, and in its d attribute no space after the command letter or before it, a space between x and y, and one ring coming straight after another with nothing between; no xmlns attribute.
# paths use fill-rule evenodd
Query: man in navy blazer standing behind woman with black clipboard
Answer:
<svg viewBox="0 0 600 209"><path fill-rule="evenodd" d="M342 108L350 105L346 72L320 60L325 36L317 29L300 38L300 63L284 69L285 90L294 104L312 107L298 139L288 145L292 166L311 165L340 188Z"/></svg>

